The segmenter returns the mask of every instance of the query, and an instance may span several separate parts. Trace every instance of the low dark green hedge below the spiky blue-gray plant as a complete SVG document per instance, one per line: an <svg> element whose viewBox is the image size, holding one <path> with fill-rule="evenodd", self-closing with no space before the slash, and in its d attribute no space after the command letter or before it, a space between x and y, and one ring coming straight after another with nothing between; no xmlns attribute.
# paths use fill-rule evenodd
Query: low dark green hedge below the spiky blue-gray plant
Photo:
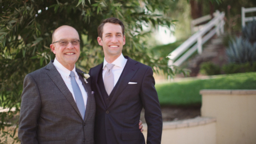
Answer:
<svg viewBox="0 0 256 144"><path fill-rule="evenodd" d="M256 71L256 62L253 63L230 63L222 66L225 74L236 74L236 73L247 73L251 71Z"/></svg>

